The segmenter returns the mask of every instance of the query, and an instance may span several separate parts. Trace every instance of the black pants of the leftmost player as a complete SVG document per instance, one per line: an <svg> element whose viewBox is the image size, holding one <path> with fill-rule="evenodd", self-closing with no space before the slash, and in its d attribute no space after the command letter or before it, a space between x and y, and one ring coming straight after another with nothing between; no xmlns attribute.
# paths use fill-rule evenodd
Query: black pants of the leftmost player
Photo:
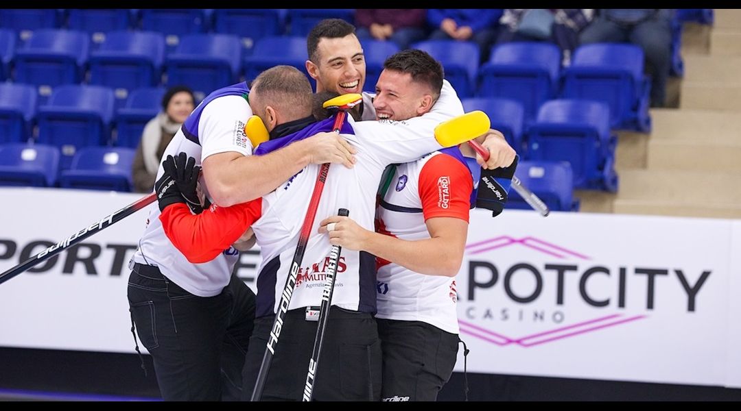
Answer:
<svg viewBox="0 0 741 411"><path fill-rule="evenodd" d="M255 294L242 280L232 276L222 293L204 298L136 264L128 298L165 401L239 400L255 317Z"/></svg>

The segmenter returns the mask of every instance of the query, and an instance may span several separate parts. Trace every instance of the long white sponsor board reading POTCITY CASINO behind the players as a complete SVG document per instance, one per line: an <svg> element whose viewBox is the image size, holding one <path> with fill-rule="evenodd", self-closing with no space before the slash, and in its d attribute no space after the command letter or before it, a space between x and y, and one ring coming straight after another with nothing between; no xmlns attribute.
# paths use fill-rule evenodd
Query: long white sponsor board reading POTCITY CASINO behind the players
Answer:
<svg viewBox="0 0 741 411"><path fill-rule="evenodd" d="M142 197L0 188L0 272ZM0 285L0 346L134 353L127 262L147 215ZM456 279L469 372L741 387L741 222L490 215L472 211ZM252 287L257 262L240 260Z"/></svg>

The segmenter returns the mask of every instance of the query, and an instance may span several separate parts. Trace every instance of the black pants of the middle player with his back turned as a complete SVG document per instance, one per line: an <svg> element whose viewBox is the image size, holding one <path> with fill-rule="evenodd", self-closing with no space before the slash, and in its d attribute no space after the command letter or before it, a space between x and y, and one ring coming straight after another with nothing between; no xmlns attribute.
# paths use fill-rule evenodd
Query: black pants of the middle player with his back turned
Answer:
<svg viewBox="0 0 741 411"><path fill-rule="evenodd" d="M306 321L306 309L290 310L275 348L262 401L301 401L316 337L316 321ZM275 316L255 320L255 332L242 373L242 398L249 401L257 381ZM370 313L330 309L322 355L316 368L316 401L379 401L381 343Z"/></svg>

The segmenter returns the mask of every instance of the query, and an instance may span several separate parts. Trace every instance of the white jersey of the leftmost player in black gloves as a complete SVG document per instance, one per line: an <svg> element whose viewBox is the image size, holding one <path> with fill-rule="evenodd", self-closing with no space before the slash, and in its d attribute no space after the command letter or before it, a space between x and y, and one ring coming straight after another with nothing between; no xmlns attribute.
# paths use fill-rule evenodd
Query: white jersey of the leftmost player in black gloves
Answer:
<svg viewBox="0 0 741 411"><path fill-rule="evenodd" d="M206 98L193 110L191 117L200 110L202 110L200 118L196 118L199 137L193 135L186 137L183 129L180 129L162 154L163 160L168 154L175 156L179 152L185 152L189 157L195 157L196 165L200 165L212 154L223 152L252 154L252 146L244 132L245 123L252 115L252 110L245 98L233 94L213 100ZM163 173L160 163L157 180ZM208 195L203 178L200 183ZM196 296L209 297L221 293L229 284L231 272L239 259L239 252L229 248L209 262L202 264L188 262L165 236L159 220L159 208L153 206L150 209L147 227L144 228L142 239L139 240L139 249L136 250L132 261L156 265L168 279Z"/></svg>

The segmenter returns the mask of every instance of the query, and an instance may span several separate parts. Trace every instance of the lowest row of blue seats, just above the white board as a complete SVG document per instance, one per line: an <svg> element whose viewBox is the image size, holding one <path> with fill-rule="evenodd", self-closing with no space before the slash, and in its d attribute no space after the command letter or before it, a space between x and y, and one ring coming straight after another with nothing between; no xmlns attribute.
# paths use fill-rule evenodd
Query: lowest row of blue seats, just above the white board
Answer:
<svg viewBox="0 0 741 411"><path fill-rule="evenodd" d="M72 168L60 170L59 148L44 144L0 144L0 186L36 186L131 191L134 150L86 147L75 154ZM469 163L476 174L479 166ZM565 162L522 161L517 175L554 211L577 211L571 166ZM476 178L478 180L478 178ZM529 208L513 190L508 208Z"/></svg>

